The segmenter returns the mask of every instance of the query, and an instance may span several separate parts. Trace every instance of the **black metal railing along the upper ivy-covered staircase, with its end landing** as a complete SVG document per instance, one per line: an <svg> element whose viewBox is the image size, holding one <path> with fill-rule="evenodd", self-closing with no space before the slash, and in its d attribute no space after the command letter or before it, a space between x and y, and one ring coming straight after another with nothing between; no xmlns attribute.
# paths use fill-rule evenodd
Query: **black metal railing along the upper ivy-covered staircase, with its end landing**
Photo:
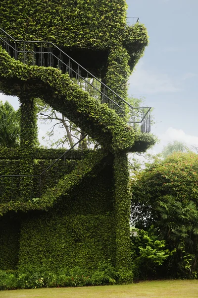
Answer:
<svg viewBox="0 0 198 298"><path fill-rule="evenodd" d="M150 107L133 107L53 43L16 40L0 28L0 45L11 57L25 64L59 68L91 96L116 110L120 117L125 115L127 106L130 111L129 124L136 128L139 123L142 133L150 132Z"/></svg>

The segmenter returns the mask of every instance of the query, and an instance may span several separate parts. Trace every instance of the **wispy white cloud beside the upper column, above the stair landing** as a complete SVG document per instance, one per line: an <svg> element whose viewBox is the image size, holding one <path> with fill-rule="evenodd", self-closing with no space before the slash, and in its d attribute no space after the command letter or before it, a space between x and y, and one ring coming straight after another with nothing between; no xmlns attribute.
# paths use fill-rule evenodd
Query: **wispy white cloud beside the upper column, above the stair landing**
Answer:
<svg viewBox="0 0 198 298"><path fill-rule="evenodd" d="M182 90L167 74L146 70L142 61L131 75L129 83L133 94L175 93Z"/></svg>

